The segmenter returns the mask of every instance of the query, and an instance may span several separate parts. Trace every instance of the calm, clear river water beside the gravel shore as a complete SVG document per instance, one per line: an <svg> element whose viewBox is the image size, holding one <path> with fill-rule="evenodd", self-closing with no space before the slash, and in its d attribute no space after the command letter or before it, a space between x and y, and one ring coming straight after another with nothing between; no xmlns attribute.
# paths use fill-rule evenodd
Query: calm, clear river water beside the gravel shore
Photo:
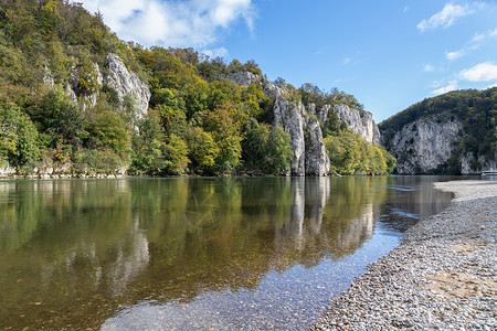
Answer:
<svg viewBox="0 0 497 331"><path fill-rule="evenodd" d="M0 329L305 329L436 180L0 181Z"/></svg>

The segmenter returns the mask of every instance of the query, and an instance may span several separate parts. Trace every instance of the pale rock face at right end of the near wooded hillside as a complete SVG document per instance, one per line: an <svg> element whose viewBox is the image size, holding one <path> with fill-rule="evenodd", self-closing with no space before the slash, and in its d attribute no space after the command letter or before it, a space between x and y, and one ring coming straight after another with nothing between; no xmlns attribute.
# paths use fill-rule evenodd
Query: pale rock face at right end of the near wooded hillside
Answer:
<svg viewBox="0 0 497 331"><path fill-rule="evenodd" d="M332 111L337 114L340 122L345 122L350 130L362 139L374 145L380 143L380 129L372 119L371 113L359 111L346 105L336 105Z"/></svg>

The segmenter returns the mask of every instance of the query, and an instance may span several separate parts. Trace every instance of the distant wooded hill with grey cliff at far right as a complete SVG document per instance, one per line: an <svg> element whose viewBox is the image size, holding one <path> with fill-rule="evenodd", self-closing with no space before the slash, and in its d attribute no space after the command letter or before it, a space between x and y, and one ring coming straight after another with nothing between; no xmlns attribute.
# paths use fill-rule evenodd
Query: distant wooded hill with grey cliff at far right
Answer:
<svg viewBox="0 0 497 331"><path fill-rule="evenodd" d="M399 173L479 173L496 169L497 87L424 99L379 125Z"/></svg>

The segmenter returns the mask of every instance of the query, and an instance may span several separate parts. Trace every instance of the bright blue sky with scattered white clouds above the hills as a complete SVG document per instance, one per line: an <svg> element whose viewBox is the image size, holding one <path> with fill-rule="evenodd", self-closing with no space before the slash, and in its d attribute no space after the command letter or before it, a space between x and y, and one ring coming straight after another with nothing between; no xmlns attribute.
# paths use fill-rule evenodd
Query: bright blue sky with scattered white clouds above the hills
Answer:
<svg viewBox="0 0 497 331"><path fill-rule="evenodd" d="M123 40L254 60L269 79L356 96L374 120L497 85L497 1L83 0Z"/></svg>

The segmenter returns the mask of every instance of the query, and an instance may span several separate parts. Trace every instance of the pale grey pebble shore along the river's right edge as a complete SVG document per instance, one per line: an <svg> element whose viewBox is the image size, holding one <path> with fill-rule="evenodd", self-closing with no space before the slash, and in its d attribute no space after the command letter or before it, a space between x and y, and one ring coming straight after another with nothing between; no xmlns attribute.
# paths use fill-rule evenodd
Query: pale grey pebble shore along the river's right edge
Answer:
<svg viewBox="0 0 497 331"><path fill-rule="evenodd" d="M497 330L497 181L455 193L331 301L315 330Z"/></svg>

